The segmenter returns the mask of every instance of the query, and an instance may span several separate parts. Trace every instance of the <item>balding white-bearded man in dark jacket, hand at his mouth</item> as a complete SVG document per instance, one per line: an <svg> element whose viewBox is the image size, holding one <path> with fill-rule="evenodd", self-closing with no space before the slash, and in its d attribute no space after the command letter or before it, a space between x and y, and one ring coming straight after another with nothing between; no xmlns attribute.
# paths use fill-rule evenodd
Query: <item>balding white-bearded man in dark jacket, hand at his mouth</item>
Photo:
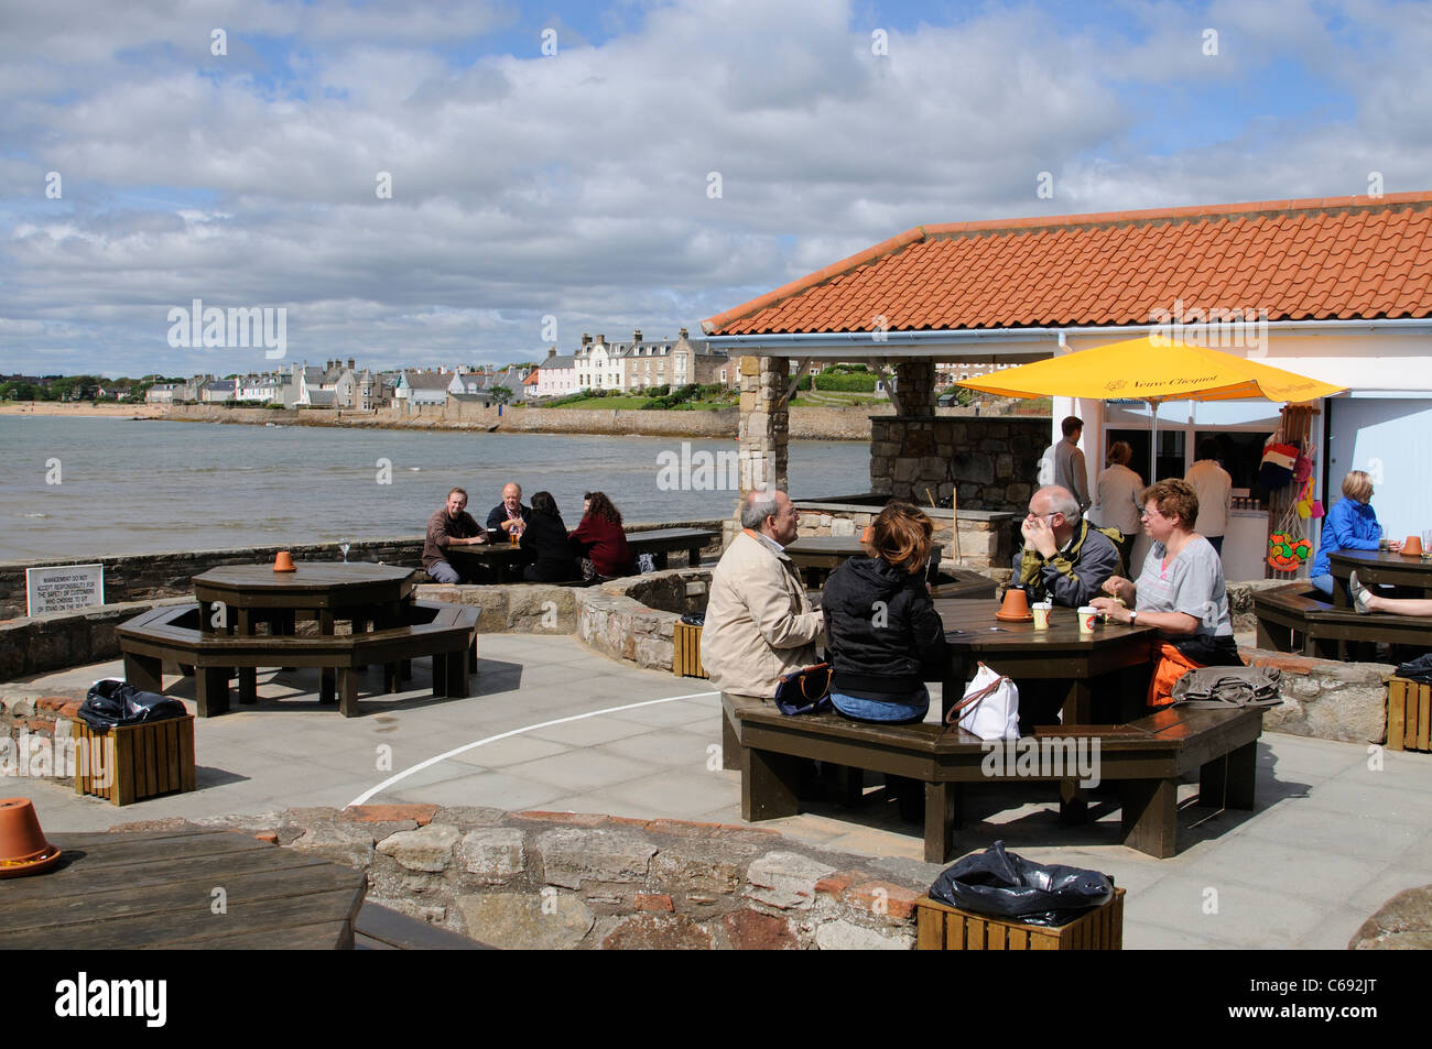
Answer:
<svg viewBox="0 0 1432 1049"><path fill-rule="evenodd" d="M1031 602L1078 608L1103 595L1104 580L1124 572L1118 547L1083 518L1068 488L1034 492L1020 532L1024 548L1014 555L1012 585L1024 587Z"/></svg>

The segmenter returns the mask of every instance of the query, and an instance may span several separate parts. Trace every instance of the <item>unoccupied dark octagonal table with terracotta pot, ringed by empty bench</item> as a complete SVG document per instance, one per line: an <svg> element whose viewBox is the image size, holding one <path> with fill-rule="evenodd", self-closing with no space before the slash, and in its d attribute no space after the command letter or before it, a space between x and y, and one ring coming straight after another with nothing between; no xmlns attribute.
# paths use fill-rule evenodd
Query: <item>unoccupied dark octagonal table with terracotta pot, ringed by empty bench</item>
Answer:
<svg viewBox="0 0 1432 1049"><path fill-rule="evenodd" d="M296 561L295 571L276 572L269 565L221 565L193 577L199 601L199 628L205 633L256 637L258 624L275 634L292 634L294 620L306 613L318 620L321 634L332 635L335 620L352 623L361 633L402 621L402 605L412 597L412 570L368 562ZM216 615L222 605L222 615ZM282 643L275 643L275 650ZM275 657L275 665L284 665ZM337 698L335 674L325 668L318 701ZM255 703L256 668L239 668L239 703Z"/></svg>

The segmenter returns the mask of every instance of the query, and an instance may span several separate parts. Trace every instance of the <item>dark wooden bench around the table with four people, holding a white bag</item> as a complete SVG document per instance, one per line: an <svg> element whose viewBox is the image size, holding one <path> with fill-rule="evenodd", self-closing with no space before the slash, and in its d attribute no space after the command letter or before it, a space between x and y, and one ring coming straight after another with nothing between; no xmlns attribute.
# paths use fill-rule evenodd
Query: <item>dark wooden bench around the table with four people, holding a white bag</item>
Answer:
<svg viewBox="0 0 1432 1049"><path fill-rule="evenodd" d="M723 697L725 698L725 697ZM740 766L740 814L750 821L795 816L800 758L902 776L925 784L925 860L954 856L959 784L1010 780L1068 780L1050 770L1010 769L990 774L992 746L961 728L938 724L878 726L833 711L786 717L773 704L730 697ZM1177 787L1200 770L1200 804L1252 809L1260 710L1163 710L1127 726L1051 727L1041 737L1058 746L1091 747L1098 738L1098 779L1118 781L1123 841L1156 857L1177 852ZM727 746L730 737L727 736ZM1012 764L1012 761L1010 761ZM1068 769L1065 767L1065 773Z"/></svg>

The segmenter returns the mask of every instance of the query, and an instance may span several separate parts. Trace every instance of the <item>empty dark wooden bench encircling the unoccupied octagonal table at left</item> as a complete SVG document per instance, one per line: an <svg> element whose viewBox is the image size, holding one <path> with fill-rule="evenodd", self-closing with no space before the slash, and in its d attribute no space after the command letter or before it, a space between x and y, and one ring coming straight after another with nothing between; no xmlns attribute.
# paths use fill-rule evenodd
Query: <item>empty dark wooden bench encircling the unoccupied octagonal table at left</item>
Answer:
<svg viewBox="0 0 1432 1049"><path fill-rule="evenodd" d="M229 675L239 667L319 667L338 671L338 710L358 713L358 675L384 667L384 688L401 690L402 665L432 657L432 694L465 697L474 655L478 610L441 601L404 605L401 627L357 634L256 635L209 634L199 630L199 605L162 605L119 625L125 678L147 691L162 691L163 663L195 668L199 717L229 708Z"/></svg>

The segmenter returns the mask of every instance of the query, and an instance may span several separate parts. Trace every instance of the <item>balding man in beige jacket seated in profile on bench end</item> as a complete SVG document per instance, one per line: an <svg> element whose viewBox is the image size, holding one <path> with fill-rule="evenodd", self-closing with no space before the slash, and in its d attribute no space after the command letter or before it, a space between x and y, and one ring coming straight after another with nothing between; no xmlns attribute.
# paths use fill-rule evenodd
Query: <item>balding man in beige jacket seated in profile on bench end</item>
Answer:
<svg viewBox="0 0 1432 1049"><path fill-rule="evenodd" d="M785 552L799 515L782 491L740 501L742 534L712 571L702 665L723 693L772 700L780 675L819 661L825 623Z"/></svg>

